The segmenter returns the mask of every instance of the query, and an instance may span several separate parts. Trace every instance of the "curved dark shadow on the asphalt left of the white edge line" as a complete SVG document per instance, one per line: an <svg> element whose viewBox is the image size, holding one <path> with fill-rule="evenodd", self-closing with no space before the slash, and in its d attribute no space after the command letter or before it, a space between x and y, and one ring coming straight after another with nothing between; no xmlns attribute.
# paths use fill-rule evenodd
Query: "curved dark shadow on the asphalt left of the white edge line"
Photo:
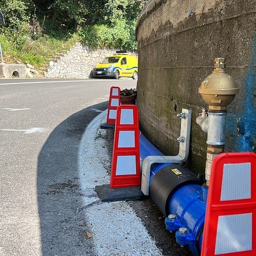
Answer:
<svg viewBox="0 0 256 256"><path fill-rule="evenodd" d="M93 255L93 244L77 209L82 205L78 179L79 143L88 124L108 102L90 106L60 123L38 156L37 200L42 255ZM94 109L94 110L92 110Z"/></svg>

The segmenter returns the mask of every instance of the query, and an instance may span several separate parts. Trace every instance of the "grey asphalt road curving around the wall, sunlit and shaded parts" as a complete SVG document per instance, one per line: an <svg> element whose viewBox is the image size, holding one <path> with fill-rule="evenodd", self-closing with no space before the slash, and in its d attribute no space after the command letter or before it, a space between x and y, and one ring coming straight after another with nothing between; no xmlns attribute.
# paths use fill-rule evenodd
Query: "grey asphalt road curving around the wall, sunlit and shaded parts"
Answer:
<svg viewBox="0 0 256 256"><path fill-rule="evenodd" d="M0 80L0 255L95 255L90 224L77 214L84 196L77 155L111 86L136 81ZM189 254L168 237L151 200L130 204L163 255Z"/></svg>

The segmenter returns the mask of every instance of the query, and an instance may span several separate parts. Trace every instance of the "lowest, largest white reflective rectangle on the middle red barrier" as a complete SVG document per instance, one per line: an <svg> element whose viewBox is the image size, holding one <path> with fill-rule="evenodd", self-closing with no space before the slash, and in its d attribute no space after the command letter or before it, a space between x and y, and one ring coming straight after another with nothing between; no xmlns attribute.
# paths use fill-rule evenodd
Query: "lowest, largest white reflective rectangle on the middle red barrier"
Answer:
<svg viewBox="0 0 256 256"><path fill-rule="evenodd" d="M136 174L136 156L117 156L116 175Z"/></svg>

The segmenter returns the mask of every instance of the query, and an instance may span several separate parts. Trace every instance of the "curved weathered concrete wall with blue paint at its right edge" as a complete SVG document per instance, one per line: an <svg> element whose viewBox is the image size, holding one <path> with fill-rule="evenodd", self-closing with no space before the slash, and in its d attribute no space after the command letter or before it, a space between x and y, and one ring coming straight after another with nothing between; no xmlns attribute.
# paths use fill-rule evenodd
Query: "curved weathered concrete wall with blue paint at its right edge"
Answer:
<svg viewBox="0 0 256 256"><path fill-rule="evenodd" d="M177 155L182 108L193 110L188 166L204 173L206 134L195 119L206 103L198 88L226 58L239 95L228 106L226 152L256 146L256 5L243 0L151 0L138 19L138 105L143 133Z"/></svg>

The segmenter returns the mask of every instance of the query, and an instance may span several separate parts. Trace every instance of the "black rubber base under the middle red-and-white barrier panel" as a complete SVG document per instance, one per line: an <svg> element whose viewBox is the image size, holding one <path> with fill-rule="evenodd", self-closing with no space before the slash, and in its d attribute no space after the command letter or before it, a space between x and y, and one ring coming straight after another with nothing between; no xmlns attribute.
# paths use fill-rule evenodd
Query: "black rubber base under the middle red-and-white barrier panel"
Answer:
<svg viewBox="0 0 256 256"><path fill-rule="evenodd" d="M149 198L140 190L139 186L110 188L109 184L95 187L96 193L102 202L144 200Z"/></svg>

